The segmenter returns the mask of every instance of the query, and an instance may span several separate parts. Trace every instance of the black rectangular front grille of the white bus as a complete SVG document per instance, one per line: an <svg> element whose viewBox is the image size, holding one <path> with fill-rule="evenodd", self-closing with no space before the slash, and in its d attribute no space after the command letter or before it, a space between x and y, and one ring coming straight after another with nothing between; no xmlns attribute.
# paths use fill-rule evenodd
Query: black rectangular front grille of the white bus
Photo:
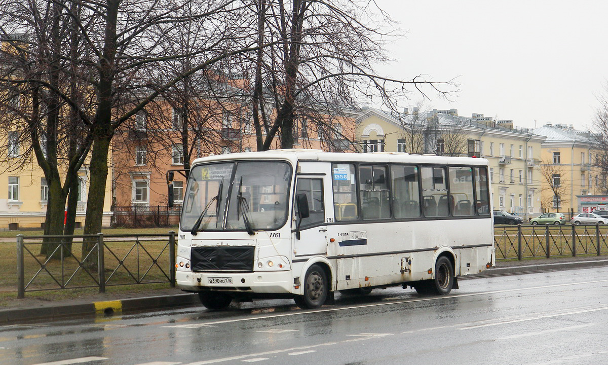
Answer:
<svg viewBox="0 0 608 365"><path fill-rule="evenodd" d="M254 271L253 246L193 247L190 251L192 271Z"/></svg>

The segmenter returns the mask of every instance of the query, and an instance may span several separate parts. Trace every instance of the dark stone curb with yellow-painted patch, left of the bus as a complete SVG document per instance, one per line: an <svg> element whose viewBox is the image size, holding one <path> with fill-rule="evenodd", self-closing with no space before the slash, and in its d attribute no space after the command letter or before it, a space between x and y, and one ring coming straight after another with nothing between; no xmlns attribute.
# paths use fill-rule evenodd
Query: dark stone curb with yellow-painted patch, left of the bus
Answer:
<svg viewBox="0 0 608 365"><path fill-rule="evenodd" d="M193 305L199 304L198 295L188 293L171 296L122 299L119 301L56 305L50 307L11 308L0 310L0 324L72 316L113 315L114 313L157 310L162 308L192 307Z"/></svg>

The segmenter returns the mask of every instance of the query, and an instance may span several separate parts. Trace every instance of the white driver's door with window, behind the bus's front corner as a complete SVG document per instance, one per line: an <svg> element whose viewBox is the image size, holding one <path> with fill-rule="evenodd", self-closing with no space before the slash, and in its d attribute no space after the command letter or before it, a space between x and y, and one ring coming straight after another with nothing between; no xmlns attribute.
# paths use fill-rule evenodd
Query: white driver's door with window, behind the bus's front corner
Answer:
<svg viewBox="0 0 608 365"><path fill-rule="evenodd" d="M326 176L298 176L295 182L295 193L306 194L310 216L300 223L300 239L294 234L294 258L309 255L327 254L327 225L325 218ZM331 190L330 190L331 191ZM297 207L295 207L297 217ZM297 221L295 221L297 224Z"/></svg>

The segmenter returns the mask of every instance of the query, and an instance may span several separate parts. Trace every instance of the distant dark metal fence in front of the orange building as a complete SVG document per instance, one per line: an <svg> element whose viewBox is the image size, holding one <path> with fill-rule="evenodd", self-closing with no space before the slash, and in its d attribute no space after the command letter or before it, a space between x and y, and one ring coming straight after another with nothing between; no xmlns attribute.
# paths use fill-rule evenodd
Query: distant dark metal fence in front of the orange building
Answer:
<svg viewBox="0 0 608 365"><path fill-rule="evenodd" d="M179 224L181 206L113 206L112 228L171 227Z"/></svg>

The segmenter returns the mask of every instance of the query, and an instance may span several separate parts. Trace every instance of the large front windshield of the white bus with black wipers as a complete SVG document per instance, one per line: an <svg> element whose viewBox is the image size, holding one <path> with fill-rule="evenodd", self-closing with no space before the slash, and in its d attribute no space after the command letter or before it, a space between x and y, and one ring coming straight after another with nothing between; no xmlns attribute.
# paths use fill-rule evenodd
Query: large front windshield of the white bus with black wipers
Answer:
<svg viewBox="0 0 608 365"><path fill-rule="evenodd" d="M188 175L182 231L275 230L287 220L291 166L238 161L196 165Z"/></svg>

